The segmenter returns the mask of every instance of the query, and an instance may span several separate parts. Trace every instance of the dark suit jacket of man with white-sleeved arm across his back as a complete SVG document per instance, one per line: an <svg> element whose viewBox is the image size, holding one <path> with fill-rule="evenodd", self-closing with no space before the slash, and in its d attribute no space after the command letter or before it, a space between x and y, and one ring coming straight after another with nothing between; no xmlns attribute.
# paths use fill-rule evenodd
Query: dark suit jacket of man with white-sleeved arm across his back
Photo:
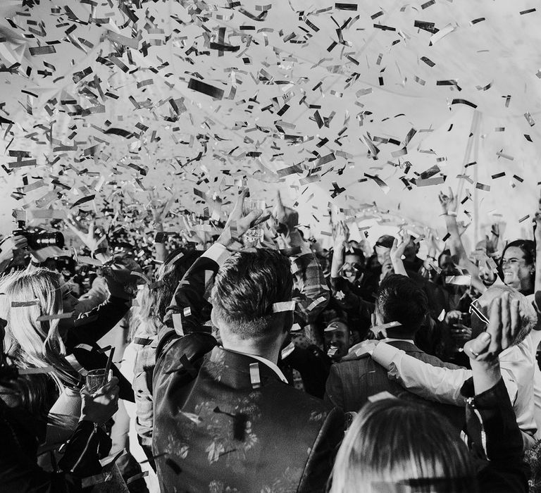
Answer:
<svg viewBox="0 0 541 493"><path fill-rule="evenodd" d="M432 366L459 368L451 363L444 363L435 356L426 354L411 342L392 341L387 344L402 349L409 356L430 363ZM446 416L456 428L461 429L462 425L464 425L465 414L463 407L426 401L408 392L399 383L389 380L387 370L375 363L368 354L332 365L327 380L325 400L334 406L342 408L345 412L359 411L368 401L368 397L384 391L390 392L390 394L397 397L422 401L423 404L435 408Z"/></svg>

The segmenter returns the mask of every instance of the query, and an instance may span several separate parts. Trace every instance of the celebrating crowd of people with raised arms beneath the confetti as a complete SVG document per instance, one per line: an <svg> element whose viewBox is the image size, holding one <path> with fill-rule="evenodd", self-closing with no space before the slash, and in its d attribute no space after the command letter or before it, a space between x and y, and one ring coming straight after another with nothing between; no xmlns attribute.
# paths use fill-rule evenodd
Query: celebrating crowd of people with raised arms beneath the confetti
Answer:
<svg viewBox="0 0 541 493"><path fill-rule="evenodd" d="M247 194L175 232L170 201L116 204L152 234L81 211L70 256L4 239L2 491L541 491L541 208L466 251L449 190L442 241L334 215L326 249Z"/></svg>

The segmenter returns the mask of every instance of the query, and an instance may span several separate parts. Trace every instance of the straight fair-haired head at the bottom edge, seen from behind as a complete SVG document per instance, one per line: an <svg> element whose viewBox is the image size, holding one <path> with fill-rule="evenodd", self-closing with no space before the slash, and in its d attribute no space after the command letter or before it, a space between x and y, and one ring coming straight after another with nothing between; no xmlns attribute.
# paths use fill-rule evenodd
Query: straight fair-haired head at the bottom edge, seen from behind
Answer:
<svg viewBox="0 0 541 493"><path fill-rule="evenodd" d="M473 493L468 450L435 411L411 401L366 404L332 470L330 493Z"/></svg>

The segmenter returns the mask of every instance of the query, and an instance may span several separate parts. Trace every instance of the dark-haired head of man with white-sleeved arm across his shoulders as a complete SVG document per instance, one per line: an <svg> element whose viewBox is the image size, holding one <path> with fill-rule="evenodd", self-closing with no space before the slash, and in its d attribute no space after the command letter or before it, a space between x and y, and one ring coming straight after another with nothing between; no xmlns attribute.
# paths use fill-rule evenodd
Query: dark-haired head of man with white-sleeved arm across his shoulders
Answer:
<svg viewBox="0 0 541 493"><path fill-rule="evenodd" d="M428 313L428 298L410 277L390 274L380 284L375 309L383 323L399 322L396 332L415 333Z"/></svg>

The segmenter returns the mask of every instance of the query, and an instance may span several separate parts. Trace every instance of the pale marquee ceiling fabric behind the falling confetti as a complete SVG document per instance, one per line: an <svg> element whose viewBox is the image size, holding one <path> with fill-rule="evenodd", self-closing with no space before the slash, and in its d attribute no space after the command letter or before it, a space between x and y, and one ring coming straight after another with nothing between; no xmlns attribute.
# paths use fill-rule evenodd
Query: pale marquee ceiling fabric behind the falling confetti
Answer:
<svg viewBox="0 0 541 493"><path fill-rule="evenodd" d="M473 233L530 234L536 2L266 2L2 1L3 223L153 187L223 213L245 178L319 232L329 203L440 225L451 186Z"/></svg>

